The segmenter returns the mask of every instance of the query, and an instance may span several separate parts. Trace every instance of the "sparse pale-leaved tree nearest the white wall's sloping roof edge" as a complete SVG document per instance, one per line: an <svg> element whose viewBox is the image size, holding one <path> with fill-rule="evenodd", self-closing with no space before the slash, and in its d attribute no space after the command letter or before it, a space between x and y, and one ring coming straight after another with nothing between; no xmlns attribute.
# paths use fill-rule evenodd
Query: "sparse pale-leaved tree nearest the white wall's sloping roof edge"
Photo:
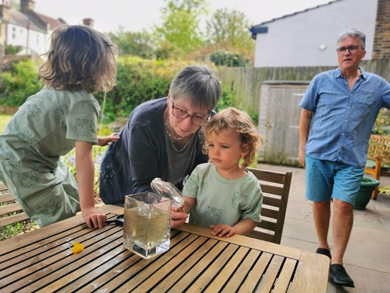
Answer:
<svg viewBox="0 0 390 293"><path fill-rule="evenodd" d="M220 47L233 46L237 52L251 55L254 52L254 40L249 33L247 16L237 10L217 9L206 22L206 37L210 45Z"/></svg>

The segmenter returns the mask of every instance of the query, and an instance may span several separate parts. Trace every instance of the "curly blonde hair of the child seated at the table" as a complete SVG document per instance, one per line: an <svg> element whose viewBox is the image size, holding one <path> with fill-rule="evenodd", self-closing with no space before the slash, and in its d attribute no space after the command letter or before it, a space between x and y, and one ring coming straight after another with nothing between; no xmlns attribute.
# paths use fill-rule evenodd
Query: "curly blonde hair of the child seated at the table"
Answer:
<svg viewBox="0 0 390 293"><path fill-rule="evenodd" d="M247 144L248 153L244 156L242 168L247 168L254 162L257 149L263 146L263 138L257 132L256 125L249 115L233 107L226 108L213 116L209 122L202 125L203 139L215 132L234 130L240 134L242 144ZM207 143L203 144L203 152L207 154Z"/></svg>

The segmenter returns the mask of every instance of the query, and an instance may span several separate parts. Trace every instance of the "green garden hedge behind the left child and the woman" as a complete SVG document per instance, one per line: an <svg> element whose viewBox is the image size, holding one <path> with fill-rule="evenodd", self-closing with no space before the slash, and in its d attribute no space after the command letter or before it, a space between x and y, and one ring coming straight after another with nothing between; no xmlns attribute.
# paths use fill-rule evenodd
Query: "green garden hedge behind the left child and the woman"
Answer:
<svg viewBox="0 0 390 293"><path fill-rule="evenodd" d="M175 75L191 64L196 62L119 57L117 86L107 92L105 101L103 92L94 94L102 108L104 122L112 122L118 117L128 117L142 102L166 97ZM0 105L20 106L27 97L43 87L37 74L38 65L31 60L23 60L14 63L11 70L0 74ZM222 89L222 98L217 110L232 106L232 91L225 85Z"/></svg>

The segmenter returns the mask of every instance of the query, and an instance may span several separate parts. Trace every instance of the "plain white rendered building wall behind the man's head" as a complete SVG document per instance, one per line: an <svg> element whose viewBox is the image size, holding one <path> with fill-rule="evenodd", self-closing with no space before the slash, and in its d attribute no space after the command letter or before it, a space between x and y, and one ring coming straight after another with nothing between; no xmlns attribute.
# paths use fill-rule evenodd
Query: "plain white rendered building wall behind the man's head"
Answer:
<svg viewBox="0 0 390 293"><path fill-rule="evenodd" d="M336 39L348 28L365 33L370 60L376 17L377 0L341 0L265 23L268 33L256 38L255 67L337 65Z"/></svg>

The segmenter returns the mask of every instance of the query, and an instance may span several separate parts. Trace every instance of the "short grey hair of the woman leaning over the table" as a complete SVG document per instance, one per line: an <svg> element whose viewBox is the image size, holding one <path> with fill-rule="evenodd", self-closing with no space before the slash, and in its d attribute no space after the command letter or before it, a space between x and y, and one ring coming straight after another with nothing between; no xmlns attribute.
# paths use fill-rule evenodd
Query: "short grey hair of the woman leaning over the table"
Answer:
<svg viewBox="0 0 390 293"><path fill-rule="evenodd" d="M217 73L207 66L191 65L173 78L169 93L172 100L189 98L192 107L206 108L211 112L220 99L221 82Z"/></svg>

